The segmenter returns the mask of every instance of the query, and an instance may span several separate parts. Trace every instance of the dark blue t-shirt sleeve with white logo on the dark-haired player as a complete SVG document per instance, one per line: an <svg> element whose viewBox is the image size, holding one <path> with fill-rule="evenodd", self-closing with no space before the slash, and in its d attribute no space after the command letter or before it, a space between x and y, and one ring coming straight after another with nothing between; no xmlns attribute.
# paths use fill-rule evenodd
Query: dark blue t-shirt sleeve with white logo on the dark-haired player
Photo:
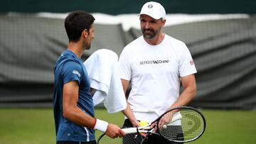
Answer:
<svg viewBox="0 0 256 144"><path fill-rule="evenodd" d="M67 62L63 66L63 83L66 84L71 81L78 81L80 84L82 74L82 67L76 62Z"/></svg>

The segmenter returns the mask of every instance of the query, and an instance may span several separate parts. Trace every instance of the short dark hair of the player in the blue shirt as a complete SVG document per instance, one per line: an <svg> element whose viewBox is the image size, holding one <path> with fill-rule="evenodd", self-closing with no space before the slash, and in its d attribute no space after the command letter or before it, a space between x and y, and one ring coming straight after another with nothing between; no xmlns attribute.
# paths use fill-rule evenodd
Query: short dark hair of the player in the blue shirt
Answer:
<svg viewBox="0 0 256 144"><path fill-rule="evenodd" d="M90 30L95 18L85 11L73 11L65 18L65 31L69 41L80 40L82 31Z"/></svg>

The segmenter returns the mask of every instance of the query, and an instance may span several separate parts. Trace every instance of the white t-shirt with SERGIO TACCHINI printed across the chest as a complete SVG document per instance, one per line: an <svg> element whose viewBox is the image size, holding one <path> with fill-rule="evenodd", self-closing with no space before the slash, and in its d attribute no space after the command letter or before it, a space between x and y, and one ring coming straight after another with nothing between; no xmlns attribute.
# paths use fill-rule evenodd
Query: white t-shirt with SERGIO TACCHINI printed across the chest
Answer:
<svg viewBox="0 0 256 144"><path fill-rule="evenodd" d="M149 122L178 99L180 77L196 73L186 45L169 35L159 45L137 38L124 47L119 65L121 78L132 84L127 101L135 117Z"/></svg>

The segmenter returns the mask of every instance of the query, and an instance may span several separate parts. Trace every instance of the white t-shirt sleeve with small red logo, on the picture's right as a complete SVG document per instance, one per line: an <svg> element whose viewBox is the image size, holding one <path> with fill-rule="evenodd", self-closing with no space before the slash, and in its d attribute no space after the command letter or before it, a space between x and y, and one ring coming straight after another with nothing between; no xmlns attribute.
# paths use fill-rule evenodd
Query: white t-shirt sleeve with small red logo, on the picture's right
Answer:
<svg viewBox="0 0 256 144"><path fill-rule="evenodd" d="M183 44L183 52L181 53L179 74L181 77L186 77L189 74L196 73L196 66L193 62L191 52L189 52L187 46Z"/></svg>

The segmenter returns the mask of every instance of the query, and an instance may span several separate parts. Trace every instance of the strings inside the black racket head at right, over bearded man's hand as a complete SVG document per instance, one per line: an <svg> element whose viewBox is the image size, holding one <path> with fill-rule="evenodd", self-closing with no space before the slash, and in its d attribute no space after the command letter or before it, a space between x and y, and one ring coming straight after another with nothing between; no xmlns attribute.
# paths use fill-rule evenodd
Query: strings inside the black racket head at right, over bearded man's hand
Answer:
<svg viewBox="0 0 256 144"><path fill-rule="evenodd" d="M176 141L191 141L198 138L204 130L204 123L201 114L189 109L182 109L179 111L181 118L177 121L171 121L168 123L161 123L159 133L169 140ZM174 112L170 111L166 113L166 116L162 116L160 121L170 121L173 118Z"/></svg>

